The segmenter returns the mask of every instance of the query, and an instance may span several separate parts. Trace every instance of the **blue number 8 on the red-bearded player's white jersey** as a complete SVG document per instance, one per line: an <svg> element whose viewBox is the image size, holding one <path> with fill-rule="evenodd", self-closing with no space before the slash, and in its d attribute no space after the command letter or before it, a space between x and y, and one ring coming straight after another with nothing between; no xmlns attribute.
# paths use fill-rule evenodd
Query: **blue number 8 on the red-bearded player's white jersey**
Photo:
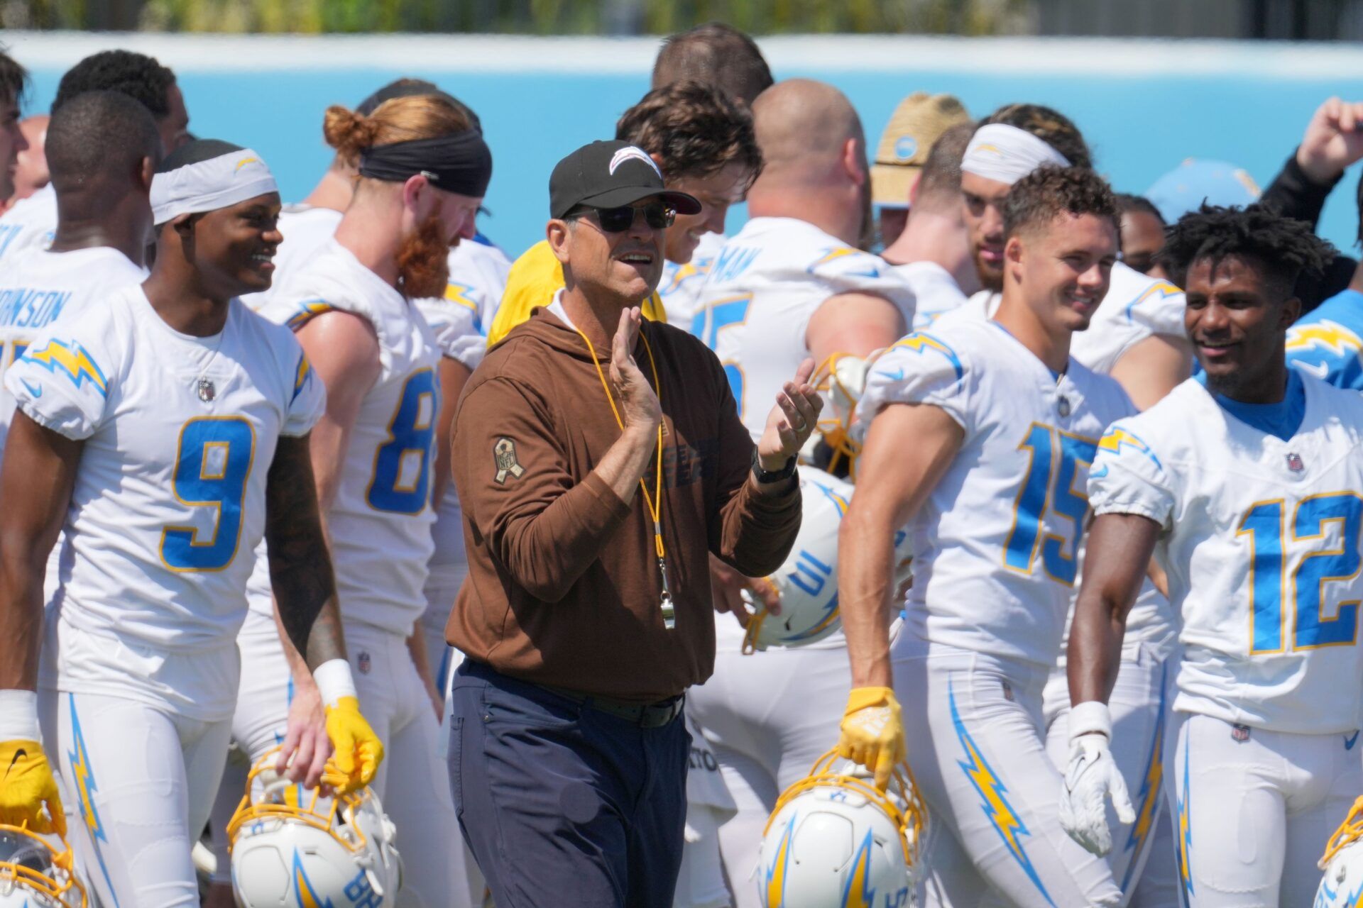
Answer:
<svg viewBox="0 0 1363 908"><path fill-rule="evenodd" d="M436 414L435 373L412 373L388 423L388 440L373 455L365 498L375 510L420 513L431 487L431 437Z"/></svg>

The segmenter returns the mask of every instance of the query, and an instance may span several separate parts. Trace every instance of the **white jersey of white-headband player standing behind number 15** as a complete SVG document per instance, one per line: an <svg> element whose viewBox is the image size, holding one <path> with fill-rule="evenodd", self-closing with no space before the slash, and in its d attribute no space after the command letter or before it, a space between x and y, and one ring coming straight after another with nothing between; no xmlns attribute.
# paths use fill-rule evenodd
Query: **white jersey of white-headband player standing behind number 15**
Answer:
<svg viewBox="0 0 1363 908"><path fill-rule="evenodd" d="M998 293L980 290L961 306L960 316L991 319L1000 299ZM1148 278L1118 261L1112 265L1107 295L1093 313L1088 331L1074 332L1070 355L1093 372L1108 374L1122 354L1146 338L1186 338L1184 308L1183 291L1172 283Z"/></svg>

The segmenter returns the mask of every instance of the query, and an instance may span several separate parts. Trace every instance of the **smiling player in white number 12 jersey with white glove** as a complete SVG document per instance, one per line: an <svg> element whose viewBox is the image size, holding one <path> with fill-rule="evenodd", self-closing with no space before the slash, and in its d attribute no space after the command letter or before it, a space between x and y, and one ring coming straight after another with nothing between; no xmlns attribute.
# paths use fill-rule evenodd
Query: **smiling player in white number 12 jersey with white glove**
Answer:
<svg viewBox="0 0 1363 908"><path fill-rule="evenodd" d="M1089 474L1066 825L1107 833L1104 762L1126 745L1105 701L1153 551L1183 619L1165 776L1184 903L1308 905L1322 843L1363 787L1363 399L1284 361L1293 285L1329 259L1306 223L1204 207L1164 256L1186 275L1205 372L1108 429Z"/></svg>

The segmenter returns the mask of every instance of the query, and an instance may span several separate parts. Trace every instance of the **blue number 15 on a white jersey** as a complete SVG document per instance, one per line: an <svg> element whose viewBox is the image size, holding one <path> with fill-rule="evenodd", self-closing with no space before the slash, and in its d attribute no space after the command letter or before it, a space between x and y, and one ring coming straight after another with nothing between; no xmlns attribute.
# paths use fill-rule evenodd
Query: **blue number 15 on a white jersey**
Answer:
<svg viewBox="0 0 1363 908"><path fill-rule="evenodd" d="M1033 422L1018 448L1029 452L1030 461L1013 506L1013 530L1003 546L1003 566L1032 573L1040 549L1045 573L1063 584L1074 585L1075 553L1084 532L1084 517L1089 512L1084 482L1088 466L1097 453L1097 442ZM1079 464L1085 467L1082 474ZM1063 536L1043 535L1041 523L1047 510L1065 517L1074 527L1069 554L1065 551Z"/></svg>

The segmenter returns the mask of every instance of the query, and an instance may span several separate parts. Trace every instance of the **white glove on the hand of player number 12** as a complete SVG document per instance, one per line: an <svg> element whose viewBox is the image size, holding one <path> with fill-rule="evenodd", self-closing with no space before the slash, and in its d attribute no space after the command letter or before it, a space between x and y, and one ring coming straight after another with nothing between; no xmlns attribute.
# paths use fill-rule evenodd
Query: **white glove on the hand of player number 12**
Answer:
<svg viewBox="0 0 1363 908"><path fill-rule="evenodd" d="M1127 825L1135 822L1126 780L1108 749L1111 730L1105 704L1089 701L1071 711L1070 766L1060 787L1060 826L1070 833L1070 839L1099 856L1112 851L1112 832L1107 825L1108 795L1116 818Z"/></svg>

